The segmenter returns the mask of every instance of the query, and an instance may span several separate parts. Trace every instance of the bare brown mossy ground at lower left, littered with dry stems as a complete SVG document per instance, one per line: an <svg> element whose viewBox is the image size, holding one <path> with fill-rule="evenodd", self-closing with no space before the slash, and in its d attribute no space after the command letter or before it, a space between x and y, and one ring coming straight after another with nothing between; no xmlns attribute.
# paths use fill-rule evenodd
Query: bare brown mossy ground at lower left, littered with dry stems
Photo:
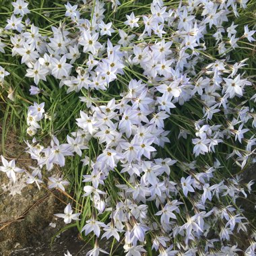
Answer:
<svg viewBox="0 0 256 256"><path fill-rule="evenodd" d="M8 133L5 158L8 161L19 158L17 166L28 170L28 166L33 166L32 160L26 154L21 155L26 144L17 143L16 138L14 132ZM50 246L51 238L65 226L63 219L53 214L63 212L66 197L60 191L50 191L45 185L40 190L35 184L26 185L24 174L16 174L16 177L13 184L4 172L0 172L0 256L59 256L67 250L73 256L86 255L92 247L78 238L76 228L57 236L53 247Z"/></svg>

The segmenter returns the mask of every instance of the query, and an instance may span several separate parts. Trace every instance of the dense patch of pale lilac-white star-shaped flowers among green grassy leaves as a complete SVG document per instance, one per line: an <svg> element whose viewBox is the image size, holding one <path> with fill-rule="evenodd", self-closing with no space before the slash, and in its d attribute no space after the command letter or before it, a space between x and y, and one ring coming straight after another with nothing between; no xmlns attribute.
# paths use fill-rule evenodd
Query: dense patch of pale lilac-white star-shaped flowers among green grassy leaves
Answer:
<svg viewBox="0 0 256 256"><path fill-rule="evenodd" d="M128 256L236 255L239 233L250 239L245 255L255 255L255 227L236 205L253 185L236 173L256 159L251 64L236 52L255 47L255 30L236 23L248 1L138 2L66 3L45 28L28 3L12 3L0 51L34 82L27 183L40 189L45 172L63 167L49 189L70 184L76 201L56 216L95 236L88 255L113 255L115 242ZM0 67L15 100L8 75ZM2 162L15 182L22 170ZM108 252L100 238L112 239Z"/></svg>

